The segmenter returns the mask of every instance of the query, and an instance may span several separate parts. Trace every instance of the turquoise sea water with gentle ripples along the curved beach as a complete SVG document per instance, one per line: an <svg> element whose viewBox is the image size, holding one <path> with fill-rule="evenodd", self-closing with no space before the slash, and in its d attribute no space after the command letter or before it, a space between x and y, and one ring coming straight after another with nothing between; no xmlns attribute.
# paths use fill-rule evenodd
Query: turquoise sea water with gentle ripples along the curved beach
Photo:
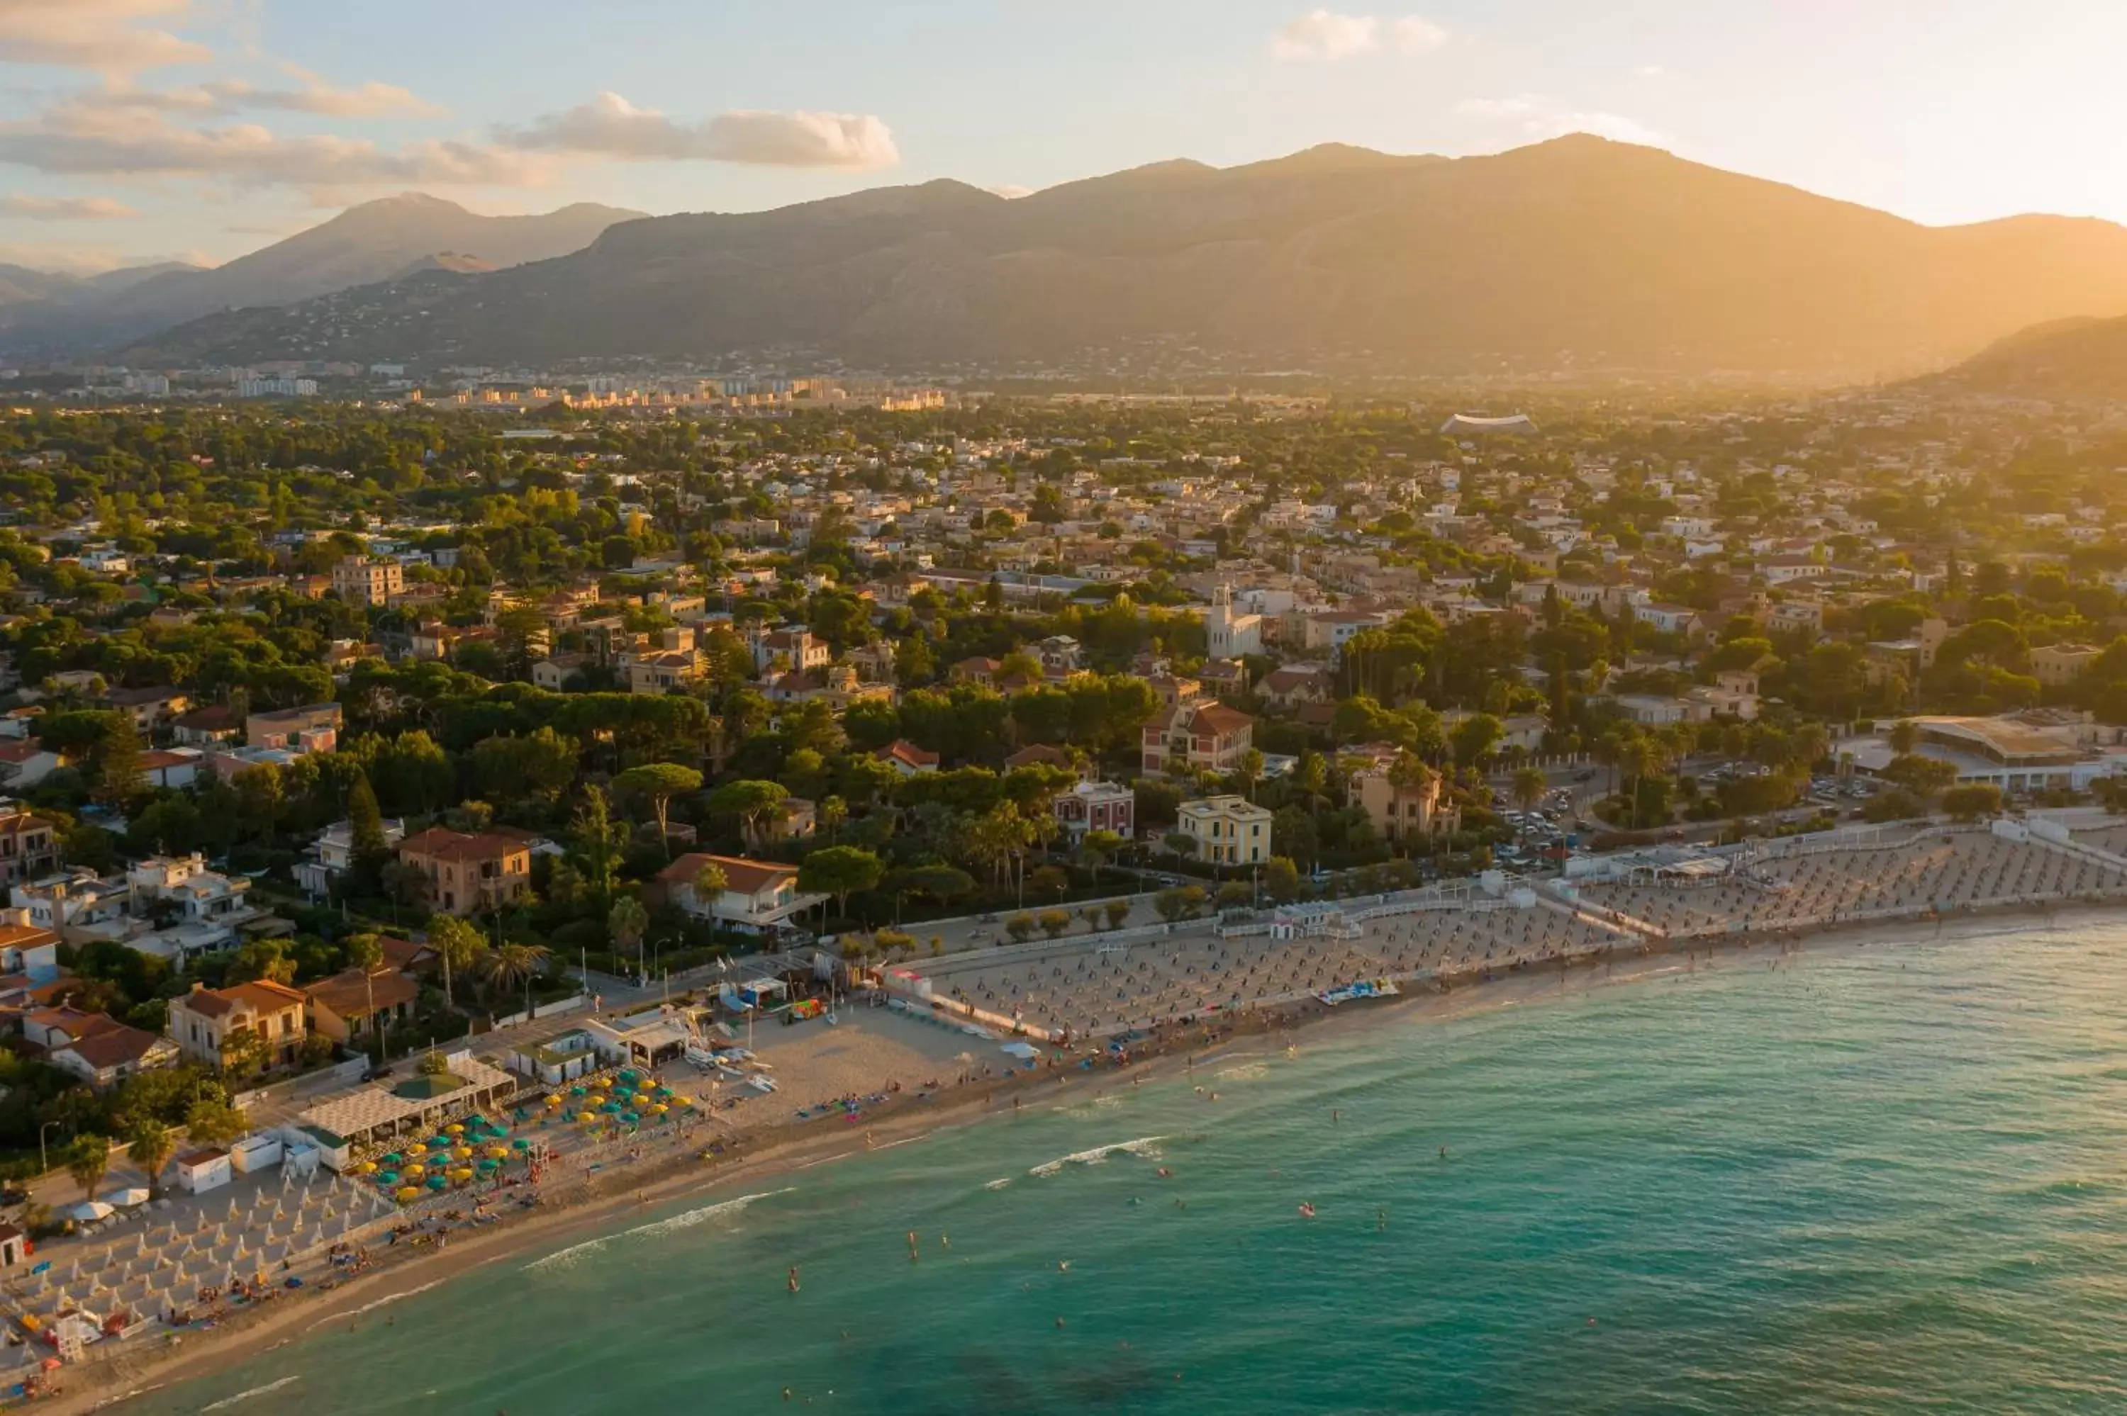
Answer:
<svg viewBox="0 0 2127 1416"><path fill-rule="evenodd" d="M2127 1410L2127 927L1236 1046L128 1410Z"/></svg>

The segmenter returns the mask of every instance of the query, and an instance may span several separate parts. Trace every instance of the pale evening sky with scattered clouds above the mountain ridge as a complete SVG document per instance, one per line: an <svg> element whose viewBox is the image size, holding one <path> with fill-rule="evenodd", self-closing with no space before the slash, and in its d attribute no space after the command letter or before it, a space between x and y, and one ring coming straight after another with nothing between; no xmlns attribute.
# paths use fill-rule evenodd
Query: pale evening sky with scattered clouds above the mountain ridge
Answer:
<svg viewBox="0 0 2127 1416"><path fill-rule="evenodd" d="M0 262L483 213L1648 142L1914 221L2127 221L2123 0L0 0Z"/></svg>

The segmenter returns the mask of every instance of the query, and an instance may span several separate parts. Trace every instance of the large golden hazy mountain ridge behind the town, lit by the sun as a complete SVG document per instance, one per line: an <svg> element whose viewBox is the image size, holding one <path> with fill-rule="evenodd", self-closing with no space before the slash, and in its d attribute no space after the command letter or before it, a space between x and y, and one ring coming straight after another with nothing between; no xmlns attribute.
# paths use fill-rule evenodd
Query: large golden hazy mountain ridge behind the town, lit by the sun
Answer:
<svg viewBox="0 0 2127 1416"><path fill-rule="evenodd" d="M940 181L657 217L559 259L206 319L149 349L474 361L810 349L908 366L1168 340L1402 372L1859 378L2116 313L2127 230L2110 223L1936 230L1576 136L1463 159L1327 147L1229 170L1172 162L1017 202Z"/></svg>

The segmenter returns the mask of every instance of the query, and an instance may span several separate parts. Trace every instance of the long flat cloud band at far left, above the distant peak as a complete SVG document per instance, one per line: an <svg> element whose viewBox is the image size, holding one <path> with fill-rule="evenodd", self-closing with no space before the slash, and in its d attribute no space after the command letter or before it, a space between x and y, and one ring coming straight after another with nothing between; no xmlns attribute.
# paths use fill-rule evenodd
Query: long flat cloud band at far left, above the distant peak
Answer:
<svg viewBox="0 0 2127 1416"><path fill-rule="evenodd" d="M179 128L160 115L70 108L0 121L0 164L62 174L206 176L238 187L538 185L536 155L425 138L385 149L359 138L283 138L257 123Z"/></svg>

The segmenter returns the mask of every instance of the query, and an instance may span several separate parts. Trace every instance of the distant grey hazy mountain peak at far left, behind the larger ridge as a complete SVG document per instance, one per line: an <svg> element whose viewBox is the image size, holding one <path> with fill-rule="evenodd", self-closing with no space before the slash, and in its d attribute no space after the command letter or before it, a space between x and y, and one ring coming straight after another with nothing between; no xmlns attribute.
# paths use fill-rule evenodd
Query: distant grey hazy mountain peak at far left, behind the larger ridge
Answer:
<svg viewBox="0 0 2127 1416"><path fill-rule="evenodd" d="M351 206L215 270L174 268L117 285L62 291L0 317L0 344L83 349L132 340L211 310L291 304L351 285L389 281L455 251L491 268L579 251L615 221L640 213L589 202L534 217L481 217L455 202L406 193Z"/></svg>

